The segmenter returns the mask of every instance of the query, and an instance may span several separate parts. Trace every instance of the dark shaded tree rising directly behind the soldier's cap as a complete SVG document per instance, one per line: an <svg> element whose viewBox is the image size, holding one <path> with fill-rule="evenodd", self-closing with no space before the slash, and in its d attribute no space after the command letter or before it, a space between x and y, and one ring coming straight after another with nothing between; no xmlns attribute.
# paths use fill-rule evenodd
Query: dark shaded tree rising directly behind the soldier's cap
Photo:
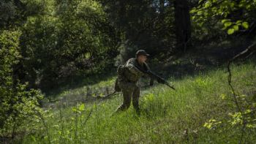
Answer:
<svg viewBox="0 0 256 144"><path fill-rule="evenodd" d="M174 12L168 1L99 1L112 25L121 33L124 45L120 50L129 51L128 57L134 56L138 49L147 50L154 58L162 58L163 53L173 51Z"/></svg>

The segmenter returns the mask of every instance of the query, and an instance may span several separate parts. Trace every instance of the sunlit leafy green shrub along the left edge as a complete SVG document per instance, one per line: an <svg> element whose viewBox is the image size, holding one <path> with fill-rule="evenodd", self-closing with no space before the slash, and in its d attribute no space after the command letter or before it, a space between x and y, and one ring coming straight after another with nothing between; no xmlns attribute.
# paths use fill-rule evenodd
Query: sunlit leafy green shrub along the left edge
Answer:
<svg viewBox="0 0 256 144"><path fill-rule="evenodd" d="M14 76L20 61L20 31L2 31L0 34L0 137L8 137L18 130L39 129L39 91L27 88ZM28 122L31 123L28 123Z"/></svg>

